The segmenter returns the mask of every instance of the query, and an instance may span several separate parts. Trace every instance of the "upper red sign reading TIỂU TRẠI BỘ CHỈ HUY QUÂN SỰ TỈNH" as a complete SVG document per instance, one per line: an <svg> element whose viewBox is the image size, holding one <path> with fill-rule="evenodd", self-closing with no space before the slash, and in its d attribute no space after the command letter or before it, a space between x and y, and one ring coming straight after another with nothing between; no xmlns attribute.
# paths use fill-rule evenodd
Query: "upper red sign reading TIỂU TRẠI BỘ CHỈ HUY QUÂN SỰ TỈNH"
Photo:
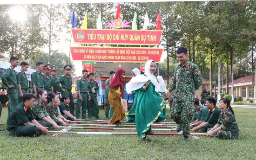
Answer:
<svg viewBox="0 0 256 160"><path fill-rule="evenodd" d="M162 31L71 29L74 43L115 45L159 45Z"/></svg>

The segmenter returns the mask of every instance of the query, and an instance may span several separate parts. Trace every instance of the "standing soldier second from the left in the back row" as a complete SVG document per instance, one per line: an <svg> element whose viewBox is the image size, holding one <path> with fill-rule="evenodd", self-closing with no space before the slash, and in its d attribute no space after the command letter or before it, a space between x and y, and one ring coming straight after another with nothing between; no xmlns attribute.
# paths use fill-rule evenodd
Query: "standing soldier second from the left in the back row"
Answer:
<svg viewBox="0 0 256 160"><path fill-rule="evenodd" d="M18 91L19 91L19 103L22 102L22 96L25 93L28 93L28 82L27 82L27 76L26 71L28 69L28 63L27 62L21 62L20 63L21 70L16 74L16 79L18 83Z"/></svg>

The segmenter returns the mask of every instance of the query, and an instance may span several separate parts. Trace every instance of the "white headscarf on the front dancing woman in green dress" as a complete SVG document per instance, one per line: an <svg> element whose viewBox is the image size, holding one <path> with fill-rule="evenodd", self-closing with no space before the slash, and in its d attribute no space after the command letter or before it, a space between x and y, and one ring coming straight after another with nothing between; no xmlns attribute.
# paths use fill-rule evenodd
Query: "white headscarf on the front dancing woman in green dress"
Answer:
<svg viewBox="0 0 256 160"><path fill-rule="evenodd" d="M140 89L146 82L148 82L149 79L151 80L151 83L155 85L155 88L158 88L160 90L159 84L157 83L155 76L152 73L150 73L149 70L150 64L152 62L155 61L150 59L145 64L145 75L147 75L147 77L144 75L139 75L136 77L132 77L130 82L126 83L125 88L128 93Z"/></svg>

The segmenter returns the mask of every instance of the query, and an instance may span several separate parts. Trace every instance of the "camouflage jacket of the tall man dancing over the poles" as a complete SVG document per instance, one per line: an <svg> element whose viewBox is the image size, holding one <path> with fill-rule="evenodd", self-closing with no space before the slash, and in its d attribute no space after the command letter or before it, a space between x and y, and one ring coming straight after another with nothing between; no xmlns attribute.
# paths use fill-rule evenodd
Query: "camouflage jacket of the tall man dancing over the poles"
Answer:
<svg viewBox="0 0 256 160"><path fill-rule="evenodd" d="M168 90L175 90L175 101L194 101L195 90L201 85L202 77L198 66L188 61L186 65L179 64L176 67L173 81Z"/></svg>

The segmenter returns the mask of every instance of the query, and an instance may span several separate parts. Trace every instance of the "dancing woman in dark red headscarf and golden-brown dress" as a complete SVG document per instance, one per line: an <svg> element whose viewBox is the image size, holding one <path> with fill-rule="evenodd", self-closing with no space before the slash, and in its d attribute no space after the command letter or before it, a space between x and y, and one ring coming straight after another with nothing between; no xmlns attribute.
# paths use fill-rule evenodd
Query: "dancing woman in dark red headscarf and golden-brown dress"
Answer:
<svg viewBox="0 0 256 160"><path fill-rule="evenodd" d="M108 124L121 124L121 120L125 116L124 109L121 105L121 91L123 90L123 85L121 83L121 78L124 77L125 70L119 68L115 77L110 82L108 102L113 109L113 116L109 120Z"/></svg>

